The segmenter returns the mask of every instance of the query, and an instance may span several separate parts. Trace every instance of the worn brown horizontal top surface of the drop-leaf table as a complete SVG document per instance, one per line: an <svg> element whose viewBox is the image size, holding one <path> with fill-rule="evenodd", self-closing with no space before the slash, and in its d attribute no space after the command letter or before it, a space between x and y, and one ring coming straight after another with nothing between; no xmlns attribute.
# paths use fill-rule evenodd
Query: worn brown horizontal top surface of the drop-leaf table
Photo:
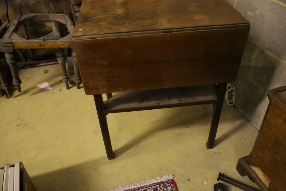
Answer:
<svg viewBox="0 0 286 191"><path fill-rule="evenodd" d="M248 21L225 0L84 0L73 36L244 23Z"/></svg>

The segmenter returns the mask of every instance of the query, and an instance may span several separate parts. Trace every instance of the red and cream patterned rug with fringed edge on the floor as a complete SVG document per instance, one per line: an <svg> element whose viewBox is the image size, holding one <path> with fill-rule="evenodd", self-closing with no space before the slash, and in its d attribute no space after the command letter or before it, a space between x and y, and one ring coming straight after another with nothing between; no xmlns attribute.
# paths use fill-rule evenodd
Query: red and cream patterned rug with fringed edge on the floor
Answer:
<svg viewBox="0 0 286 191"><path fill-rule="evenodd" d="M173 178L174 175L170 174L105 191L178 191Z"/></svg>

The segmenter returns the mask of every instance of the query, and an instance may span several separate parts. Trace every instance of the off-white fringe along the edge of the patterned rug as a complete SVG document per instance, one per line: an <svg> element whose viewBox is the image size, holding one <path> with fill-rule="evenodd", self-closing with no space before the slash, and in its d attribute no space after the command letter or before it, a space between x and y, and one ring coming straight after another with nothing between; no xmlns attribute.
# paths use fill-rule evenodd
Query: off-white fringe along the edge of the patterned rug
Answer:
<svg viewBox="0 0 286 191"><path fill-rule="evenodd" d="M141 182L135 182L133 184L128 184L128 185L125 185L125 186L120 186L120 187L117 187L117 188L112 188L112 189L104 190L104 191L124 191L124 190L132 189L132 188L137 188L137 187L140 187L140 186L146 186L146 185L149 185L149 184L154 184L156 182L161 182L161 181L164 181L164 180L173 179L174 177L175 176L173 174L169 174L169 175L166 175L166 176L157 177L157 178L150 179L150 180L144 180L144 181L141 181Z"/></svg>

